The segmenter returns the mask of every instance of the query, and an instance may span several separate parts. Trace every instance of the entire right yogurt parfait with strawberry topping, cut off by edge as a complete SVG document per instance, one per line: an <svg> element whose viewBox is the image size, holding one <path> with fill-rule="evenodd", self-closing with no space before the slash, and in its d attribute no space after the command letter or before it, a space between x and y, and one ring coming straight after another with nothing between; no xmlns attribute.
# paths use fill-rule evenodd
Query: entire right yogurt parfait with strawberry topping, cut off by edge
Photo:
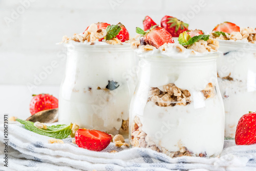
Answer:
<svg viewBox="0 0 256 171"><path fill-rule="evenodd" d="M239 118L256 111L256 31L224 22L210 33L220 42L218 81L225 106L225 137L234 138Z"/></svg>

